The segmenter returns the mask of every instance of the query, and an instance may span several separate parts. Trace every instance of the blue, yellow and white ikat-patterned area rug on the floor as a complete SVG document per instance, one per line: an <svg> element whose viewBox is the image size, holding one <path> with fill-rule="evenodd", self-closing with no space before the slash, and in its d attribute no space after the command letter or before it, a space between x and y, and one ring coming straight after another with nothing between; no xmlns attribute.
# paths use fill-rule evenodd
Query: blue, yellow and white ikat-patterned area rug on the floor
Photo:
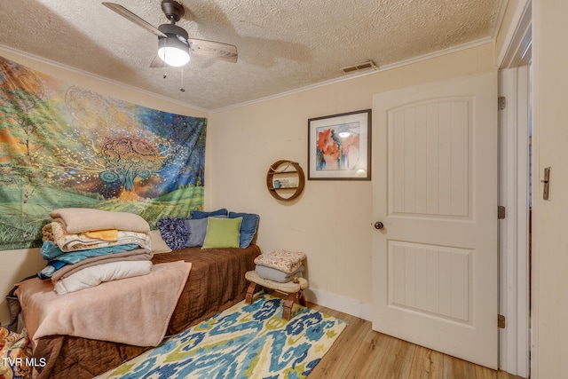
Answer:
<svg viewBox="0 0 568 379"><path fill-rule="evenodd" d="M261 294L171 337L99 378L304 378L346 322Z"/></svg>

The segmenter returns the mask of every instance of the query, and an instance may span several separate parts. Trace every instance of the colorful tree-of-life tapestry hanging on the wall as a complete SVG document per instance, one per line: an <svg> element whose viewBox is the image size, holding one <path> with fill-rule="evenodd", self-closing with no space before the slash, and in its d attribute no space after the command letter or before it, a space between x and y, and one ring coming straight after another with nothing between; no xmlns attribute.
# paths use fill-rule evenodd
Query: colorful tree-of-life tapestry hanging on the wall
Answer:
<svg viewBox="0 0 568 379"><path fill-rule="evenodd" d="M202 209L207 119L112 99L0 57L0 250L41 246L49 212Z"/></svg>

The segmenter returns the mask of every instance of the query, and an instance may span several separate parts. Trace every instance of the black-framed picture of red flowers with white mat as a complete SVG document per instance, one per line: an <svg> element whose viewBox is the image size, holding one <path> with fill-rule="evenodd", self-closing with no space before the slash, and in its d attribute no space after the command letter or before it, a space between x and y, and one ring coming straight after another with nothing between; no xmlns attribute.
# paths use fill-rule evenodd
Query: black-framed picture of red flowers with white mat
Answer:
<svg viewBox="0 0 568 379"><path fill-rule="evenodd" d="M308 180L371 180L371 109L308 120Z"/></svg>

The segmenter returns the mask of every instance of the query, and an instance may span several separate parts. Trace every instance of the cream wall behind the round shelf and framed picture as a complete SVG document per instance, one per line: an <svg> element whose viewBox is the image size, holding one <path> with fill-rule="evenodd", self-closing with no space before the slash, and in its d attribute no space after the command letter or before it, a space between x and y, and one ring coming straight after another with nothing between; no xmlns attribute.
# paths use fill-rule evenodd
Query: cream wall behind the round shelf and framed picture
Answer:
<svg viewBox="0 0 568 379"><path fill-rule="evenodd" d="M372 107L373 94L494 70L487 43L373 75L214 112L206 172L211 209L260 215L258 245L307 255L308 300L367 318L371 304L372 182L306 181L302 196L281 202L266 190L272 162L307 172L307 120Z"/></svg>

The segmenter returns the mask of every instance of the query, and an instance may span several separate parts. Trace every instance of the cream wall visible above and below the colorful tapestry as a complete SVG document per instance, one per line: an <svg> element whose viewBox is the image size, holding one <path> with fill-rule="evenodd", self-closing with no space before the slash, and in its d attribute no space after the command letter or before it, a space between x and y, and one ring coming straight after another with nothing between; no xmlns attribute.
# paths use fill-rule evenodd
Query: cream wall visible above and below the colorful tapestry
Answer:
<svg viewBox="0 0 568 379"><path fill-rule="evenodd" d="M45 74L65 80L97 91L101 94L122 99L144 107L159 109L164 112L185 114L195 117L209 117L209 113L199 108L188 107L184 104L168 99L153 96L148 92L135 91L118 83L112 83L102 78L78 72L69 67L60 67L41 61L33 57L20 54L18 51L5 50L0 46L0 56L12 59L26 67L33 68ZM12 289L19 280L32 275L45 267L45 262L39 254L39 249L21 249L0 251L0 323L5 324L10 320L8 305L4 296Z"/></svg>

